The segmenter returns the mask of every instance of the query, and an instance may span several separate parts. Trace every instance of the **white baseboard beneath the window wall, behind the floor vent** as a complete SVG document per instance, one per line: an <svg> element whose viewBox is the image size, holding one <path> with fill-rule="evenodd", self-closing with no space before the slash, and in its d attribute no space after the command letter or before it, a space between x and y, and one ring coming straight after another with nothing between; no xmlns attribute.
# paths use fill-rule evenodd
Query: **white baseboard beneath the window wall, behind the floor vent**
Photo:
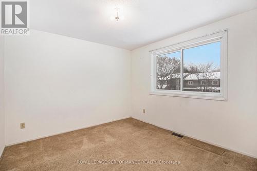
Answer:
<svg viewBox="0 0 257 171"><path fill-rule="evenodd" d="M132 117L132 118L133 118L133 119L137 119L137 118L135 118L135 117ZM193 139L196 139L196 140L199 140L199 141L202 141L202 142L211 144L211 145L215 145L215 146L218 146L218 147L227 149L227 150L232 151L232 152L235 152L235 153L239 153L239 154L242 154L242 155L245 155L245 156L249 156L249 157L253 157L253 158L257 159L257 156L251 155L251 154L249 154L249 153L239 152L239 151L236 151L235 149L231 149L231 148L228 148L228 147L225 147L225 146L222 146L222 145L218 145L218 144L215 144L215 143L212 143L212 142L209 142L209 141L205 141L205 140L202 140L202 139L198 139L198 138L195 138L195 137L190 136L190 135L182 134L182 133L179 133L179 132L170 130L170 129L168 129L167 127L163 127L163 126L160 126L160 125L157 125L157 124L154 124L154 123L150 123L150 122L147 122L147 121L143 121L143 120L141 120L141 119L137 119L137 120L139 120L139 121L141 121L141 122L145 122L145 123L152 124L152 125L154 125L154 126L160 127L161 129L164 129L164 130L172 131L172 132L174 132L174 133L177 133L177 134L180 134L180 135L183 135L183 136L186 136L186 137L190 137L190 138L193 138Z"/></svg>

